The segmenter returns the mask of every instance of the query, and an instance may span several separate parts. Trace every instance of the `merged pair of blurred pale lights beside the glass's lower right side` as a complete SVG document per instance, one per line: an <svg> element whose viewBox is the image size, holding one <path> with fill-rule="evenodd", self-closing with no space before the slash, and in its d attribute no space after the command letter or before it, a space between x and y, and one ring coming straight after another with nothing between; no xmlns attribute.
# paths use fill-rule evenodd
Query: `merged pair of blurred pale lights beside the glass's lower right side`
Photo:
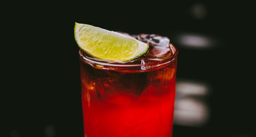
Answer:
<svg viewBox="0 0 256 137"><path fill-rule="evenodd" d="M209 106L205 102L209 86L204 82L177 80L174 124L202 127L209 119Z"/></svg>

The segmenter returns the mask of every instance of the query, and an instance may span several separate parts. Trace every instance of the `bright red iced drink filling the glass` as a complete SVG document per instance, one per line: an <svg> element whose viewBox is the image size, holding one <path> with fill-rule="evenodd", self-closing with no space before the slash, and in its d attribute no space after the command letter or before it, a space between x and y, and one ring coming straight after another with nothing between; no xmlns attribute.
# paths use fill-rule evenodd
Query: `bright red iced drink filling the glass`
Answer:
<svg viewBox="0 0 256 137"><path fill-rule="evenodd" d="M128 64L159 60L145 55ZM171 137L176 63L174 58L151 69L118 71L92 67L81 59L85 137Z"/></svg>

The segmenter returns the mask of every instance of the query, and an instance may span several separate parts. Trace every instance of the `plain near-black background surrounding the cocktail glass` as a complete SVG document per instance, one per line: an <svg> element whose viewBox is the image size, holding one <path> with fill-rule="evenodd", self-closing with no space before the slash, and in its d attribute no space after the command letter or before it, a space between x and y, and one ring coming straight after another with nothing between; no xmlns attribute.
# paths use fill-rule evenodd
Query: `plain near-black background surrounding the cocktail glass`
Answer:
<svg viewBox="0 0 256 137"><path fill-rule="evenodd" d="M174 137L254 137L254 34L246 2L9 3L3 10L2 118L7 137L83 137L74 22L130 34L156 33L177 46L177 78L205 81L209 122L177 126ZM203 17L193 14L202 5ZM184 47L182 33L209 36L212 48ZM53 136L54 135L54 136ZM3 136L3 137L4 137Z"/></svg>

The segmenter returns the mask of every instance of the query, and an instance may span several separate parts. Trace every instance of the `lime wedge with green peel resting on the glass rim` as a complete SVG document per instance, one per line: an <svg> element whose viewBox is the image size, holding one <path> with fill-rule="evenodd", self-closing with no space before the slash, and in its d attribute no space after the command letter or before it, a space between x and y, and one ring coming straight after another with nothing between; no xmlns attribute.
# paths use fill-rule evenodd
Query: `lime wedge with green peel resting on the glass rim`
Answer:
<svg viewBox="0 0 256 137"><path fill-rule="evenodd" d="M149 46L128 35L88 24L75 23L75 40L89 55L115 62L128 62L148 52Z"/></svg>

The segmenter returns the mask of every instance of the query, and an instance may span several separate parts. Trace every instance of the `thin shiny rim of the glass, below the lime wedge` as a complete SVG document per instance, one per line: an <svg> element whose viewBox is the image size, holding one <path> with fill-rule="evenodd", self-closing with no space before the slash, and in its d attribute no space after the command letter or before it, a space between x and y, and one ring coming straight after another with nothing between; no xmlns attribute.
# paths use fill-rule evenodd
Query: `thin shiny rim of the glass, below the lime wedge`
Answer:
<svg viewBox="0 0 256 137"><path fill-rule="evenodd" d="M158 62L151 62L151 63L146 63L146 64L110 64L110 63L105 63L105 62L99 62L97 60L90 59L86 56L83 55L83 51L79 49L79 57L80 59L87 64L90 64L92 66L109 66L109 67L141 67L141 66L162 66L164 64L168 64L169 62L174 61L177 58L178 55L178 50L173 44L169 44L170 48L173 49L173 55L170 57L166 58L165 60L161 60ZM151 68L151 67L150 67Z"/></svg>

